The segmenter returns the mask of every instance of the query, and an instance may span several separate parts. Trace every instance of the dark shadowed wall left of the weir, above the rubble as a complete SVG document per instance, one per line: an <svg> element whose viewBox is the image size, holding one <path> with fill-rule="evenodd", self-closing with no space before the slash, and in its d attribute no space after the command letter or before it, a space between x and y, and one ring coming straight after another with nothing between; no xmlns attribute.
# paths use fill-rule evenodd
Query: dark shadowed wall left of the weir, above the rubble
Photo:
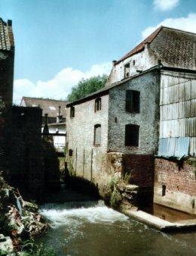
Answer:
<svg viewBox="0 0 196 256"><path fill-rule="evenodd" d="M40 108L13 107L11 180L35 196L44 189L41 114Z"/></svg>

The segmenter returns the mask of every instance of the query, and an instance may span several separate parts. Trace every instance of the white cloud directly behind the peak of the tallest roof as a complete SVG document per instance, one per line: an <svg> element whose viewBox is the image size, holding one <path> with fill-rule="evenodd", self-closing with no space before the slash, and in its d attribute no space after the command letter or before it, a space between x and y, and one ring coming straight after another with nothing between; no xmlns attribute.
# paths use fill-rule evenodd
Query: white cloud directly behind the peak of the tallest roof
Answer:
<svg viewBox="0 0 196 256"><path fill-rule="evenodd" d="M179 18L168 18L163 20L156 27L147 27L142 31L142 39L145 39L149 36L153 31L155 31L161 25L165 27L173 27L179 30L185 30L188 32L196 33L196 13L190 13L187 17L179 17Z"/></svg>

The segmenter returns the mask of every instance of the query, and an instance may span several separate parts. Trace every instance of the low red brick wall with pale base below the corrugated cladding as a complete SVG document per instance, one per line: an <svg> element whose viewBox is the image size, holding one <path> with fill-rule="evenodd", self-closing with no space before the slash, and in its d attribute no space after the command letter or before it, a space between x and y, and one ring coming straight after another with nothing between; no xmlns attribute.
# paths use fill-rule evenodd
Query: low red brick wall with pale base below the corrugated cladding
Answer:
<svg viewBox="0 0 196 256"><path fill-rule="evenodd" d="M196 161L195 158L193 159ZM195 195L194 164L188 164L188 161L155 159L155 203L196 214Z"/></svg>

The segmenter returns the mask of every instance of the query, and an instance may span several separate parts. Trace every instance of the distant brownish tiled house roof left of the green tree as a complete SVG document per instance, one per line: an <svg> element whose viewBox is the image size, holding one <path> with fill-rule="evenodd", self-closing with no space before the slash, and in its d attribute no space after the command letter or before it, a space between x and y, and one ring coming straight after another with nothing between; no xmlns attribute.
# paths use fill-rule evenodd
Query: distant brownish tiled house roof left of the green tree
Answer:
<svg viewBox="0 0 196 256"><path fill-rule="evenodd" d="M44 114L48 114L48 117L57 117L59 106L61 107L60 114L63 114L63 117L66 117L66 105L67 101L31 97L23 97L20 103L20 106L39 107L42 109L42 115L44 116Z"/></svg>

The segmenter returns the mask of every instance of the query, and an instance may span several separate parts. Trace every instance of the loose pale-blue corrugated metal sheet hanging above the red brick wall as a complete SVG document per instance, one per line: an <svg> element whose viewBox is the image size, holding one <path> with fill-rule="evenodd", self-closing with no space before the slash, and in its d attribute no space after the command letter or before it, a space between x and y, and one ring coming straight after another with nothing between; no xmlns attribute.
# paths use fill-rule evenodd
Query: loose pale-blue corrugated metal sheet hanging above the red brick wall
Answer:
<svg viewBox="0 0 196 256"><path fill-rule="evenodd" d="M189 138L165 138L160 139L158 155L164 157L182 158L188 155Z"/></svg>

